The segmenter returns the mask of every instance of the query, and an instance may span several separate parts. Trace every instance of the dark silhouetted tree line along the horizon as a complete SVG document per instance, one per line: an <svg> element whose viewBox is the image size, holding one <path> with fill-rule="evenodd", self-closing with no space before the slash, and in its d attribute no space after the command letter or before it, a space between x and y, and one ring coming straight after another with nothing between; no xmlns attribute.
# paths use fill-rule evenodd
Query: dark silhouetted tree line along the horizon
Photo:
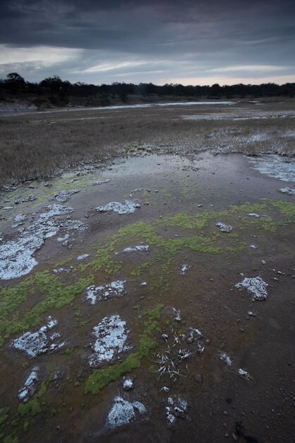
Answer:
<svg viewBox="0 0 295 443"><path fill-rule="evenodd" d="M22 76L16 72L11 72L6 79L0 79L0 98L1 96L52 96L59 98L72 97L97 97L103 104L109 102L109 98L119 97L122 101L128 100L128 96L175 96L187 98L246 98L246 97L294 97L295 83L278 85L275 83L265 83L260 85L235 84L219 86L183 86L181 84L164 84L157 86L152 83L118 83L110 85L86 84L78 81L71 84L68 80L61 80L59 76L47 77L40 82L25 81Z"/></svg>

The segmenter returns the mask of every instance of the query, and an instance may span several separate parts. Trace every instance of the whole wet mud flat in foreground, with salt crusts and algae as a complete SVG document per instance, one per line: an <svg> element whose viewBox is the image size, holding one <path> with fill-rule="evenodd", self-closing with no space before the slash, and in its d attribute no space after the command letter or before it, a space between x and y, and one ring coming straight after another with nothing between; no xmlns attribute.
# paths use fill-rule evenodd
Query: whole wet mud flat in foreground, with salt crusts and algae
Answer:
<svg viewBox="0 0 295 443"><path fill-rule="evenodd" d="M1 439L291 442L287 161L145 152L1 193Z"/></svg>

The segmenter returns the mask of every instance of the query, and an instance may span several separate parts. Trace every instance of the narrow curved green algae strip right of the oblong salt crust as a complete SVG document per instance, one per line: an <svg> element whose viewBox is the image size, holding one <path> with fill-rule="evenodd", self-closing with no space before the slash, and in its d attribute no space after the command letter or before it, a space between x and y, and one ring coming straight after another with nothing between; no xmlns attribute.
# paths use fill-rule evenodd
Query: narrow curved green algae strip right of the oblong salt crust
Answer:
<svg viewBox="0 0 295 443"><path fill-rule="evenodd" d="M100 393L111 381L119 380L125 374L132 372L133 369L140 367L141 359L157 346L154 335L159 330L159 319L163 308L164 305L158 304L154 309L145 311L143 314L144 329L140 335L138 351L129 354L124 362L114 364L106 369L96 369L86 381L85 393Z"/></svg>

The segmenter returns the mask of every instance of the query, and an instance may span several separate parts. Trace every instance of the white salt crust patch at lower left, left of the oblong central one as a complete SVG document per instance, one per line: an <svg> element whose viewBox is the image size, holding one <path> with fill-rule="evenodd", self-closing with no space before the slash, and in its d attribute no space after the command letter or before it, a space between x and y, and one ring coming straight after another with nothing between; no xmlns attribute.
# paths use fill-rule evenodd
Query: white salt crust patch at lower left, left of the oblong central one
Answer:
<svg viewBox="0 0 295 443"><path fill-rule="evenodd" d="M44 354L44 352L47 352L48 350L63 347L65 343L60 342L59 338L61 338L61 335L59 333L54 333L52 335L46 334L56 325L57 321L52 317L48 317L46 325L42 326L34 333L27 332L20 335L20 337L11 342L11 347L26 352L30 357L37 357L37 355Z"/></svg>

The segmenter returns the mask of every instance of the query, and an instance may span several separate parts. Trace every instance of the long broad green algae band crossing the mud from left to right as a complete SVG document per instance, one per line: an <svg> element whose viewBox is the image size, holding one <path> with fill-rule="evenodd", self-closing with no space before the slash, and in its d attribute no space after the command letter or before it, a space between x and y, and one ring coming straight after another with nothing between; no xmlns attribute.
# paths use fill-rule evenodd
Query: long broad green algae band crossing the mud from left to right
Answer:
<svg viewBox="0 0 295 443"><path fill-rule="evenodd" d="M252 219L246 217L250 212L268 212L267 217ZM270 213L272 216L270 216ZM106 275L116 275L123 268L123 263L114 258L114 251L130 245L131 241L145 241L155 247L155 255L152 259L139 263L129 271L131 276L139 276L144 272L153 270L162 272L162 287L169 288L168 275L171 270L171 260L183 249L197 253L225 255L238 253L245 248L246 243L239 240L243 229L252 226L254 229L263 229L274 232L284 224L292 222L295 216L295 205L292 202L282 200L263 200L263 203L246 203L240 206L231 206L224 211L205 211L201 214L186 214L181 212L173 216L166 216L154 222L136 222L122 227L111 236L104 245L101 245L95 254L95 258L88 263L82 263L73 270L82 273L77 282L66 284L62 277L53 275L49 271L36 272L15 287L0 289L0 346L12 334L23 332L33 328L44 321L44 314L50 309L73 303L76 297L86 287L93 284L97 272ZM276 217L274 219L273 217ZM279 217L279 219L277 219ZM210 223L218 219L227 219L238 234L222 234L219 231L211 231L205 234L203 230L210 227ZM163 228L177 227L190 232L190 236L180 235L177 238L164 238L161 232ZM166 234L165 234L166 235ZM224 245L224 240L227 244ZM66 260L68 263L68 260ZM157 263L160 265L158 266ZM84 275L83 275L84 274ZM35 306L18 314L18 308L22 306L30 296L38 299Z"/></svg>

